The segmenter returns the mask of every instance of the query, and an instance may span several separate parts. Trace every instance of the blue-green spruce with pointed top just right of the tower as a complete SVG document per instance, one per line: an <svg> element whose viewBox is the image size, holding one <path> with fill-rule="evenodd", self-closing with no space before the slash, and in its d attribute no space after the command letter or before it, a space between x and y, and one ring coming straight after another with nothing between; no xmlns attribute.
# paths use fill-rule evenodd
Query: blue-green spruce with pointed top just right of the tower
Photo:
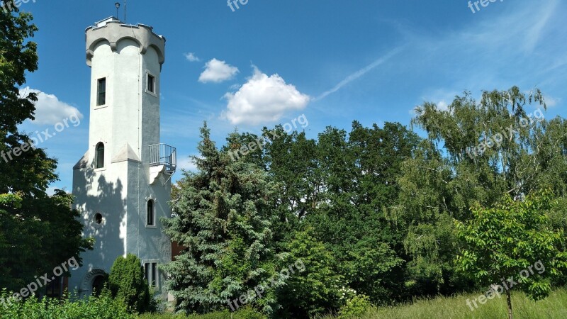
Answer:
<svg viewBox="0 0 567 319"><path fill-rule="evenodd" d="M163 220L164 232L186 247L162 267L166 285L177 308L190 313L244 303L272 313L283 284L271 241L279 188L261 167L219 152L206 123L201 138L201 155L193 157L198 173L184 172L171 203L176 216Z"/></svg>

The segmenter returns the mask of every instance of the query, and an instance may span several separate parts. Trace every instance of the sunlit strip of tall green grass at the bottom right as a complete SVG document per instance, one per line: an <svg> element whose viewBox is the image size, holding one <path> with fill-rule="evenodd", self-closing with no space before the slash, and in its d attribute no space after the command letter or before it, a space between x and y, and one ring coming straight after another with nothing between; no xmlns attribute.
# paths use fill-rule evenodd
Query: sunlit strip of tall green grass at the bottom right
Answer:
<svg viewBox="0 0 567 319"><path fill-rule="evenodd" d="M480 293L454 297L437 297L417 300L405 306L382 307L369 310L361 319L417 319L417 318L477 318L477 319L506 319L506 298L495 297L484 305L478 303L478 308L471 310L466 300L477 298ZM473 306L474 308L474 306ZM567 289L558 289L541 300L532 301L523 293L512 291L512 311L515 319L534 318L567 318ZM325 319L335 318L327 316Z"/></svg>

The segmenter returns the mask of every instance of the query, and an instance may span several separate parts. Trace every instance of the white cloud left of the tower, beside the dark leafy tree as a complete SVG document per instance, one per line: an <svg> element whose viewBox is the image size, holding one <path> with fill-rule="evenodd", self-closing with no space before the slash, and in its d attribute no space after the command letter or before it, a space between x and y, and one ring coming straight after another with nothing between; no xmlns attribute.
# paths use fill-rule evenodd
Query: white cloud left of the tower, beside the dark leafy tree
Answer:
<svg viewBox="0 0 567 319"><path fill-rule="evenodd" d="M77 108L70 106L69 104L59 101L57 96L53 94L47 94L36 89L30 89L29 86L20 89L20 95L26 96L30 92L37 94L38 101L35 102L35 120L31 123L37 125L55 125L60 123L65 118L69 116L76 115L79 119L83 118L83 115Z"/></svg>

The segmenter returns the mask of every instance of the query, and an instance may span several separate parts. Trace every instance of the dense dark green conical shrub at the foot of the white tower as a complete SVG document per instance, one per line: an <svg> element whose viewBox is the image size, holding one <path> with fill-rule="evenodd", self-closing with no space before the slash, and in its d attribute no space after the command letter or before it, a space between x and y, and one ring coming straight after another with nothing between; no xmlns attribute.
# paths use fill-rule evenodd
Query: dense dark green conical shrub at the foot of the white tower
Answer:
<svg viewBox="0 0 567 319"><path fill-rule="evenodd" d="M135 254L118 257L108 276L112 296L123 300L128 308L144 313L150 307L150 289L144 276L142 262Z"/></svg>

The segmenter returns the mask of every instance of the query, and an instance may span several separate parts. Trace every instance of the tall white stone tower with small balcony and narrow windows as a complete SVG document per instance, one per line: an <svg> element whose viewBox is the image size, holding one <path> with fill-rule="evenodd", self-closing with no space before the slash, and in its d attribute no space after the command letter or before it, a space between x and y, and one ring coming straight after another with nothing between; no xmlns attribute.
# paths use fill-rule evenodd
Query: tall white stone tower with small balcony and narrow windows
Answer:
<svg viewBox="0 0 567 319"><path fill-rule="evenodd" d="M142 260L150 284L161 288L157 265L172 260L172 244L159 218L167 202L176 150L159 143L160 72L165 38L142 24L107 18L86 29L91 67L89 150L73 171L74 208L94 250L82 254L69 291L81 296L101 284L118 256Z"/></svg>

